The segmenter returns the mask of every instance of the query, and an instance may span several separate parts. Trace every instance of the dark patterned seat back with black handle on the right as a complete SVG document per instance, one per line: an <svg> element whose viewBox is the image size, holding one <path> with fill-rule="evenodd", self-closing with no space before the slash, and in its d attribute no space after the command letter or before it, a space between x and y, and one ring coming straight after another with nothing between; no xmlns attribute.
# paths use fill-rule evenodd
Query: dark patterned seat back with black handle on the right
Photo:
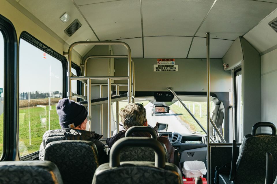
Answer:
<svg viewBox="0 0 277 184"><path fill-rule="evenodd" d="M257 134L258 127L271 127L272 134ZM266 152L277 157L276 127L272 123L259 122L252 128L252 134L244 137L241 152L236 163L234 183L264 183ZM273 173L277 175L277 162L273 162ZM230 176L231 178L231 176Z"/></svg>

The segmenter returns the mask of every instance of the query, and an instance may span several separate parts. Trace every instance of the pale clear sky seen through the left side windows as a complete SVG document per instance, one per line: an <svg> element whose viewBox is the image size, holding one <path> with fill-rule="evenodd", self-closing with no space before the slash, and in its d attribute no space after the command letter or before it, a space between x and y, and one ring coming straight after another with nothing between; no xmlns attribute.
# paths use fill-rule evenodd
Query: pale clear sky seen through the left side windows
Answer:
<svg viewBox="0 0 277 184"><path fill-rule="evenodd" d="M46 57L46 58L44 58ZM4 40L0 32L0 88L4 88ZM20 39L19 44L19 93L40 91L62 92L62 64L44 51ZM76 70L72 70L76 75ZM5 91L5 89L4 89ZM72 92L77 91L72 81ZM3 97L3 93L2 93Z"/></svg>

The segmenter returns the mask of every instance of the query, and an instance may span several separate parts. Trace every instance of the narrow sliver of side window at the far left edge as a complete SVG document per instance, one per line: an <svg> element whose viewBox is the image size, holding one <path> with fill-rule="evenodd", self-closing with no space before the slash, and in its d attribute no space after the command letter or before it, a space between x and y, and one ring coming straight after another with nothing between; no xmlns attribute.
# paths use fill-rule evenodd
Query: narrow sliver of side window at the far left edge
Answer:
<svg viewBox="0 0 277 184"><path fill-rule="evenodd" d="M4 123L4 38L0 31L0 158L3 152Z"/></svg>

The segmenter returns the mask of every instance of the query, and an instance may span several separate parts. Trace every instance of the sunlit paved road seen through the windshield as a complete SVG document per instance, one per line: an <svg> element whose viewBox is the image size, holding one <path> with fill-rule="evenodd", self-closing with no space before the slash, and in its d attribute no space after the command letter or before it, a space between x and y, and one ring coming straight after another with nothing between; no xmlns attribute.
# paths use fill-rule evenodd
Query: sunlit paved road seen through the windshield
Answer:
<svg viewBox="0 0 277 184"><path fill-rule="evenodd" d="M148 124L152 127L156 126L156 122L167 123L169 132L178 132L178 133L191 133L184 125L182 125L179 120L176 118L176 115L170 110L165 116L151 116L153 104L150 102L145 106L146 117Z"/></svg>

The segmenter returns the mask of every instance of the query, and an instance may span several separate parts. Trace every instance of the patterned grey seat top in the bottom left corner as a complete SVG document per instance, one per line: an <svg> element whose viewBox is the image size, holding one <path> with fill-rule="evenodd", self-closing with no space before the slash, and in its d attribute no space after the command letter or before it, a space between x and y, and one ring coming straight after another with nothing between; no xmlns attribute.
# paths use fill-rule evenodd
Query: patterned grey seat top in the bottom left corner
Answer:
<svg viewBox="0 0 277 184"><path fill-rule="evenodd" d="M59 169L49 161L0 162L1 184L61 184Z"/></svg>

